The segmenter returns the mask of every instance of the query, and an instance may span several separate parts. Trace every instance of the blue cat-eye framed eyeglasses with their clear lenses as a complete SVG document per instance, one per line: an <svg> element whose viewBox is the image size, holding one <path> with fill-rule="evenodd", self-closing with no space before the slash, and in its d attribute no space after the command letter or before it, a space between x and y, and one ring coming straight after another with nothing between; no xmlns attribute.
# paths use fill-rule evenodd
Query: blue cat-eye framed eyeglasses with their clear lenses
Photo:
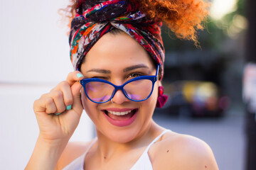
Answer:
<svg viewBox="0 0 256 170"><path fill-rule="evenodd" d="M110 101L118 90L121 90L124 96L131 101L145 101L153 92L158 73L159 64L156 68L156 75L135 77L126 81L121 86L98 78L82 79L80 80L80 84L82 84L87 98L94 103L106 103Z"/></svg>

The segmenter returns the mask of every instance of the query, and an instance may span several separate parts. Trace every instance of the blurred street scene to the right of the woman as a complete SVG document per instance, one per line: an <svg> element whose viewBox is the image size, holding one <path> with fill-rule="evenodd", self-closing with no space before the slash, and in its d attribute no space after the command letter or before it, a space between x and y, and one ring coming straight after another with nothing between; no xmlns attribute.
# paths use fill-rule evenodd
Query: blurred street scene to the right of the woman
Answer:
<svg viewBox="0 0 256 170"><path fill-rule="evenodd" d="M164 90L169 100L164 108L156 109L154 120L207 142L220 169L254 169L247 165L242 77L248 53L247 6L255 3L211 2L206 30L198 35L201 47L177 40L162 29L166 49ZM250 159L255 164L256 158Z"/></svg>

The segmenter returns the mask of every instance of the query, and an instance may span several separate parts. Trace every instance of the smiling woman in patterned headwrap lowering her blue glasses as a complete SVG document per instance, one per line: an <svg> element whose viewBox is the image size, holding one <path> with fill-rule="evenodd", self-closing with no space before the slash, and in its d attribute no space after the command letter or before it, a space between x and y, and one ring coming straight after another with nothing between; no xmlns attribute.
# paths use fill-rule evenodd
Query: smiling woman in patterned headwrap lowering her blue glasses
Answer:
<svg viewBox="0 0 256 170"><path fill-rule="evenodd" d="M218 169L205 142L152 120L166 101L160 21L197 42L194 28L205 7L185 0L75 2L70 57L76 71L35 101L40 133L26 169ZM97 137L68 143L83 109Z"/></svg>

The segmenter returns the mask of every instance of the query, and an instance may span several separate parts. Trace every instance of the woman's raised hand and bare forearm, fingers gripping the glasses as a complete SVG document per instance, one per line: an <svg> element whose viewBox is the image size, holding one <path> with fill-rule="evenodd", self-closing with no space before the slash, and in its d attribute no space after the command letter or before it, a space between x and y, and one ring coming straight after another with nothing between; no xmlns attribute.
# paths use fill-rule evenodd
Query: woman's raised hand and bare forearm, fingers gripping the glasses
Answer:
<svg viewBox="0 0 256 170"><path fill-rule="evenodd" d="M26 170L55 169L82 114L81 79L80 72L71 72L66 81L34 102L40 132Z"/></svg>

